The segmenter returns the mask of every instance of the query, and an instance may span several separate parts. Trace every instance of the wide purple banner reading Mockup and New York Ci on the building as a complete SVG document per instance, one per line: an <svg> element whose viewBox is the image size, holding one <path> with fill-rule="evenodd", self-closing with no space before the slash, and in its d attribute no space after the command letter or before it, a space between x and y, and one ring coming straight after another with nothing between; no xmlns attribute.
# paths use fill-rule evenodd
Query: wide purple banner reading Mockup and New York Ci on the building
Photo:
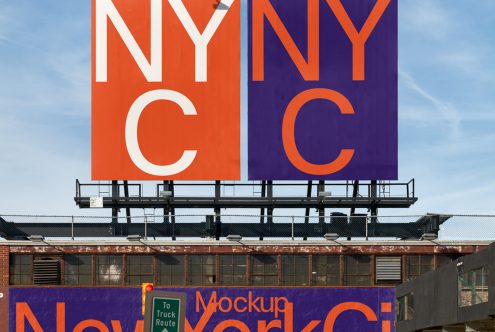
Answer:
<svg viewBox="0 0 495 332"><path fill-rule="evenodd" d="M394 288L173 288L186 332L394 330ZM143 332L138 288L11 288L9 331Z"/></svg>

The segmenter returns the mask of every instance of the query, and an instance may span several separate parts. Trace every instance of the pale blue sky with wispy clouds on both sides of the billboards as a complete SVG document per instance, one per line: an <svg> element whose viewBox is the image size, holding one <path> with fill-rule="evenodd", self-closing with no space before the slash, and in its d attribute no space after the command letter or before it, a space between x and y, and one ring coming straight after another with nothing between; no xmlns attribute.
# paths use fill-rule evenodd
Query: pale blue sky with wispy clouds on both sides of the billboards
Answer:
<svg viewBox="0 0 495 332"><path fill-rule="evenodd" d="M394 214L495 213L494 12L399 0L399 177L419 201ZM0 214L87 212L90 24L89 0L0 0Z"/></svg>

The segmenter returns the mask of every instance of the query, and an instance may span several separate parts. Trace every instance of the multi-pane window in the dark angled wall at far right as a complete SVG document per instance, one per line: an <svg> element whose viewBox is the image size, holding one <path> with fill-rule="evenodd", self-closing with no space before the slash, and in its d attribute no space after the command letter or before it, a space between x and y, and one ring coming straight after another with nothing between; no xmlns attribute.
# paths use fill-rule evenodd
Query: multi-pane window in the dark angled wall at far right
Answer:
<svg viewBox="0 0 495 332"><path fill-rule="evenodd" d="M488 271L485 267L461 272L457 276L459 307L488 302Z"/></svg>

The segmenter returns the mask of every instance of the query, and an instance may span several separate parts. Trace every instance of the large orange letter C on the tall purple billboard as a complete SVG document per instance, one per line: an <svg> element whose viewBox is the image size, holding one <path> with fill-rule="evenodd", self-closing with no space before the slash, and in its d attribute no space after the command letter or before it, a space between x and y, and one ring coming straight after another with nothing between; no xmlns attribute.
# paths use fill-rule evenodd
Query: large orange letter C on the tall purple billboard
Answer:
<svg viewBox="0 0 495 332"><path fill-rule="evenodd" d="M313 99L326 99L334 102L341 114L354 114L351 102L344 95L330 89L309 89L295 96L285 110L282 121L282 143L289 161L301 172L312 175L332 174L343 169L354 156L354 149L342 149L334 161L328 164L313 164L305 160L296 146L294 127L301 107Z"/></svg>

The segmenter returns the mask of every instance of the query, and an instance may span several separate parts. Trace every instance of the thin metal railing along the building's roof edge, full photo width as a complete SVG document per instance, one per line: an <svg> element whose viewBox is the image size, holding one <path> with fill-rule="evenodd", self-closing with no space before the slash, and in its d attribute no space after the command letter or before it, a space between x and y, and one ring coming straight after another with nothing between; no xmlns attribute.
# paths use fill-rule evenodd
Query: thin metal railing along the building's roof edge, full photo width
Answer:
<svg viewBox="0 0 495 332"><path fill-rule="evenodd" d="M331 234L331 236L330 236ZM442 240L495 239L495 215L330 216L282 215L142 215L117 219L94 216L2 215L0 236L26 240L53 238L252 239L306 240L338 236L351 239L420 239L434 234Z"/></svg>

